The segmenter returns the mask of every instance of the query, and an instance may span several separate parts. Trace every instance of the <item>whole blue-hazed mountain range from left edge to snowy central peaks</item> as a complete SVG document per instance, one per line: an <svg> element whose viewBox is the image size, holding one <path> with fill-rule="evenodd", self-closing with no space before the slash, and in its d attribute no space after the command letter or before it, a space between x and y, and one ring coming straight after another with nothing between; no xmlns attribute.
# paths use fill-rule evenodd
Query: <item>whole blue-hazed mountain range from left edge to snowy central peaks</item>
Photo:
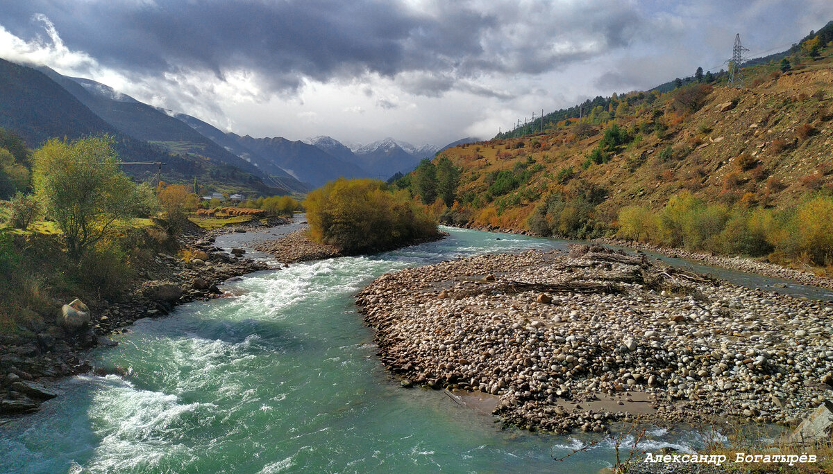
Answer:
<svg viewBox="0 0 833 474"><path fill-rule="evenodd" d="M244 180L262 181L255 187L304 193L341 176L386 180L397 172L413 170L420 160L444 149L432 144L414 146L392 137L350 147L323 135L304 141L240 136L197 117L137 101L100 82L63 76L49 67L6 61L0 66L0 126L19 133L28 146L40 146L55 136L108 133L120 137L123 160L140 160L141 156L141 160L167 163L177 156L189 161L178 165L185 176L196 173L198 165L207 166L197 159L202 158L250 176ZM217 171L202 171L217 175Z"/></svg>

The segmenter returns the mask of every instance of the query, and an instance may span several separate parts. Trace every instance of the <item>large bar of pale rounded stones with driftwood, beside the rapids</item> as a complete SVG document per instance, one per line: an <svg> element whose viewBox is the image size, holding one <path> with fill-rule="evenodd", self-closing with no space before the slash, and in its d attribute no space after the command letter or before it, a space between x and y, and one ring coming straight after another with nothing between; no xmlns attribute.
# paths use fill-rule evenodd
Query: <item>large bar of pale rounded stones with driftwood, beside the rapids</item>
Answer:
<svg viewBox="0 0 833 474"><path fill-rule="evenodd" d="M830 305L601 246L404 269L357 304L403 385L491 394L507 425L794 424L831 397Z"/></svg>

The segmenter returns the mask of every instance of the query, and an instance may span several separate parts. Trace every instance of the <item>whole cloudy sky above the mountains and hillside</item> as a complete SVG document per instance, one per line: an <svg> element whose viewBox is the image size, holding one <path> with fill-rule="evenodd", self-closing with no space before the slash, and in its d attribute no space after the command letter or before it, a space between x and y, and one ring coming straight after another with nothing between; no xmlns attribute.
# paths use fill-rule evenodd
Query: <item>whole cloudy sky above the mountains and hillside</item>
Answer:
<svg viewBox="0 0 833 474"><path fill-rule="evenodd" d="M830 0L4 0L0 57L240 134L444 145L829 20Z"/></svg>

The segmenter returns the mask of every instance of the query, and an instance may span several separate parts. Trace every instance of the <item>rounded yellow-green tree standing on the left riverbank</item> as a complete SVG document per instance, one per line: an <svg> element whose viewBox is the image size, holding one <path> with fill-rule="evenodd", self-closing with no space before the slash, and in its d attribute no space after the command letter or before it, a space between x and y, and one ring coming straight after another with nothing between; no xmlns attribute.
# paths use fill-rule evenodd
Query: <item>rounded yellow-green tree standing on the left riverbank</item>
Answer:
<svg viewBox="0 0 833 474"><path fill-rule="evenodd" d="M113 143L111 136L52 139L32 155L37 200L62 230L72 259L152 204L151 192L119 170Z"/></svg>

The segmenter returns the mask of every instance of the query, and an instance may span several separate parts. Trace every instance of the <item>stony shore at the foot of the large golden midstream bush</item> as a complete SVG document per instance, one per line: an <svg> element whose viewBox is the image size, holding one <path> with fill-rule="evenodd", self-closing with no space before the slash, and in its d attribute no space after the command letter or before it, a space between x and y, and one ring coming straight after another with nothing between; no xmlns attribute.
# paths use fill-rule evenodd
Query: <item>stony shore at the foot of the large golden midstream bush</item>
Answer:
<svg viewBox="0 0 833 474"><path fill-rule="evenodd" d="M337 257L355 255L344 252L333 245L313 242L307 237L307 230L308 227L304 227L280 239L265 240L260 244L255 245L255 249L266 254L271 254L282 264L294 264L297 262L308 262L322 259L335 259ZM378 249L377 251L382 252L401 249L402 247L408 247L411 245L425 244L426 242L445 239L446 236L448 236L447 233L440 232L436 235L436 237L413 239L390 248Z"/></svg>

